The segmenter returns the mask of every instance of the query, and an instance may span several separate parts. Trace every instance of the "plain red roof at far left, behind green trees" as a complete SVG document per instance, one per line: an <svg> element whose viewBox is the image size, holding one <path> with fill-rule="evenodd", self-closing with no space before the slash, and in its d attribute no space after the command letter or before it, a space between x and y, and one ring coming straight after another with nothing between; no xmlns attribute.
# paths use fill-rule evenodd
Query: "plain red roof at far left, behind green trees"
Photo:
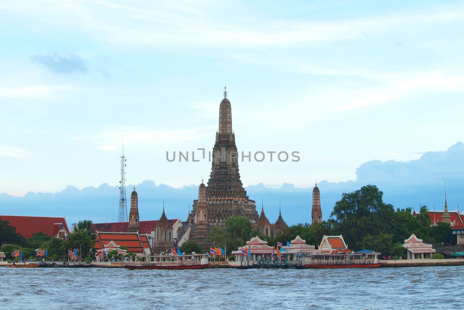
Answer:
<svg viewBox="0 0 464 310"><path fill-rule="evenodd" d="M61 224L64 225L64 228L69 233L69 228L64 217L0 215L0 219L2 221L9 221L11 226L16 227L16 232L24 238L31 238L32 234L36 234L39 231L53 237L58 234ZM53 234L55 232L55 224L57 223L59 228Z"/></svg>

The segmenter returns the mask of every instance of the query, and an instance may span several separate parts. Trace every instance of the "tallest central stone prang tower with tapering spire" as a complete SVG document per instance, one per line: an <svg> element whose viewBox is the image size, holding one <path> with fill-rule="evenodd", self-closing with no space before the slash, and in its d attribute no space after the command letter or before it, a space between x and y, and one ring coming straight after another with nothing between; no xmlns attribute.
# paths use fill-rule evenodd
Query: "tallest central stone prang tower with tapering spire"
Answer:
<svg viewBox="0 0 464 310"><path fill-rule="evenodd" d="M251 222L258 220L255 202L248 198L238 173L238 151L232 131L232 108L224 87L219 105L219 130L213 147L211 174L206 186L208 221L225 225L231 215L244 215Z"/></svg>

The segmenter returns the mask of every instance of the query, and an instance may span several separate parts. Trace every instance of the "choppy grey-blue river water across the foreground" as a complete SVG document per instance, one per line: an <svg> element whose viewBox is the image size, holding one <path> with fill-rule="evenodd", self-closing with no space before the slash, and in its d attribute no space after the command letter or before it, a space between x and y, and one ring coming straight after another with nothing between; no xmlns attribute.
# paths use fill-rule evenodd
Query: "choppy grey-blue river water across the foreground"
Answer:
<svg viewBox="0 0 464 310"><path fill-rule="evenodd" d="M460 309L463 272L0 267L0 309Z"/></svg>

